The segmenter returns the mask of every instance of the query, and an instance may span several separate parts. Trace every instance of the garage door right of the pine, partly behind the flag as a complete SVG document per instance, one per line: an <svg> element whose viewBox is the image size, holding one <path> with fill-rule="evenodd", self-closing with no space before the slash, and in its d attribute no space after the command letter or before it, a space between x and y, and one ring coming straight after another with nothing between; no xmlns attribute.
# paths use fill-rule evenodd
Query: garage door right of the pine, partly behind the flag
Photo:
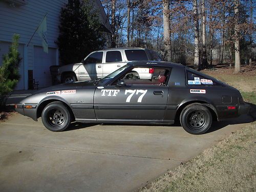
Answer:
<svg viewBox="0 0 256 192"><path fill-rule="evenodd" d="M56 49L49 48L48 53L45 53L42 47L34 46L33 78L39 82L39 88L52 85L52 65L56 65Z"/></svg>

